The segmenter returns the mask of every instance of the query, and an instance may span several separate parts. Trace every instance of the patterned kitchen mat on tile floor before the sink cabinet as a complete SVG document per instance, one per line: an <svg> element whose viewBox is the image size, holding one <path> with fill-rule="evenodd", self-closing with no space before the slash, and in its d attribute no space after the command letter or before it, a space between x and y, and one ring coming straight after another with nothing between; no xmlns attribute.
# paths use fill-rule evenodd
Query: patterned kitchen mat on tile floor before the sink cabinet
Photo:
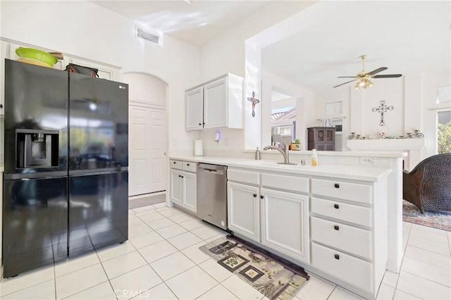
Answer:
<svg viewBox="0 0 451 300"><path fill-rule="evenodd" d="M309 280L303 268L231 235L199 249L271 300L292 299Z"/></svg>

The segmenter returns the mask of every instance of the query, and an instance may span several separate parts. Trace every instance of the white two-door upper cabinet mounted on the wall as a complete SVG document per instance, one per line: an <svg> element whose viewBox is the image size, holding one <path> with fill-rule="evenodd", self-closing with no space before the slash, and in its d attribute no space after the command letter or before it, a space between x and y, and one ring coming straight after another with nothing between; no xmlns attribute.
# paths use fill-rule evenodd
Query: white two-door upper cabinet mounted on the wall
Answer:
<svg viewBox="0 0 451 300"><path fill-rule="evenodd" d="M242 129L243 78L228 73L186 91L186 130Z"/></svg>

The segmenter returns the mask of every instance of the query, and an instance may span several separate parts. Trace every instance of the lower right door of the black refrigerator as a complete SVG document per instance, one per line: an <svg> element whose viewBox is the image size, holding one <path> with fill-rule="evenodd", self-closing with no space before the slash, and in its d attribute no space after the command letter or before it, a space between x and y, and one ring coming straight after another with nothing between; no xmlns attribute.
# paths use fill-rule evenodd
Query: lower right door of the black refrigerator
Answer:
<svg viewBox="0 0 451 300"><path fill-rule="evenodd" d="M128 239L128 173L70 177L69 256Z"/></svg>

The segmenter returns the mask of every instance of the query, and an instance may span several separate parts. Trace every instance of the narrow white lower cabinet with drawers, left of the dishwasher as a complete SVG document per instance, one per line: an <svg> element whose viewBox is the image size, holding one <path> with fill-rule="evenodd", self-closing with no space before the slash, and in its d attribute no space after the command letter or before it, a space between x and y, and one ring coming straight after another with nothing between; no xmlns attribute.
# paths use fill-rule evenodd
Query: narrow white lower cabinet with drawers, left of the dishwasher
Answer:
<svg viewBox="0 0 451 300"><path fill-rule="evenodd" d="M173 204L197 213L197 175L196 164L171 161L170 199Z"/></svg>

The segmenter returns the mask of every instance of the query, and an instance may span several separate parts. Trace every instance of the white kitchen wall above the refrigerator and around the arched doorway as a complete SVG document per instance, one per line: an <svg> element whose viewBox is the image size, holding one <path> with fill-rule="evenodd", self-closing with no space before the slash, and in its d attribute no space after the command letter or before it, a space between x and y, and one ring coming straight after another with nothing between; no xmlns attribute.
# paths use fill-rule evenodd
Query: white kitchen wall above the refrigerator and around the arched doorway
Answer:
<svg viewBox="0 0 451 300"><path fill-rule="evenodd" d="M135 37L135 23L88 1L0 1L3 38L142 72L168 83L169 151L191 151L185 89L199 82L199 49L164 36L163 46Z"/></svg>

